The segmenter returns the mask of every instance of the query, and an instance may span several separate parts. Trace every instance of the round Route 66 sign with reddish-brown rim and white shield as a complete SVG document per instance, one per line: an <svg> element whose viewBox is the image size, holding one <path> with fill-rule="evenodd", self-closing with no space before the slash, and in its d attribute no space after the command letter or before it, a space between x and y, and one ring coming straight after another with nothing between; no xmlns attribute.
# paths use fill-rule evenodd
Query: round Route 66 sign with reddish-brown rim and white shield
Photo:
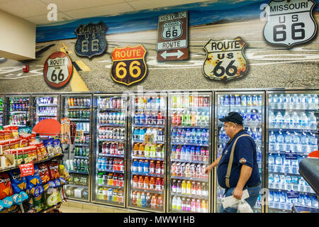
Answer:
<svg viewBox="0 0 319 227"><path fill-rule="evenodd" d="M45 82L54 88L65 86L72 76L72 60L65 52L54 52L47 57L43 67Z"/></svg>

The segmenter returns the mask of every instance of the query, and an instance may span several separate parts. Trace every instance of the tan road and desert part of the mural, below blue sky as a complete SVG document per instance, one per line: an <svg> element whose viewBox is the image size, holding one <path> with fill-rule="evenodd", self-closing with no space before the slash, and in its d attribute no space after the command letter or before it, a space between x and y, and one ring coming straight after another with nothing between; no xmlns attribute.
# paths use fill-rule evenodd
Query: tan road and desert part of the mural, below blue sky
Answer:
<svg viewBox="0 0 319 227"><path fill-rule="evenodd" d="M315 18L318 23L318 14ZM285 87L293 87L296 81L298 84L303 84L301 72L304 78L310 82L313 81L314 86L318 85L318 75L314 74L314 71L318 72L319 65L318 35L311 43L286 50L266 43L262 35L264 23L264 21L254 20L191 27L189 28L189 60L174 62L157 62L157 31L155 30L106 35L108 43L106 54L92 57L91 60L75 54L75 39L41 43L38 44L37 59L27 62L30 64L29 73L23 73L21 65L12 67L7 62L0 63L0 90L6 92L6 86L11 85L16 92L47 91L47 85L43 79L43 64L55 51L67 52L75 69L71 81L66 87L59 89L60 92L134 90L137 89L138 84L126 87L116 84L111 79L111 52L115 47L123 48L127 45L140 44L147 50L147 77L142 83L144 89L154 87L157 81L162 85L162 89L194 89L198 78L203 89L220 88L220 84L223 83L212 83L211 80L202 78L204 77L202 67L206 58L203 46L210 39L233 39L237 36L248 43L245 55L249 62L249 72L244 78L237 79L237 87L264 87L264 77L269 77L268 81L274 81L273 87L278 87L276 82L284 84ZM316 67L315 70L314 67ZM252 75L254 82L250 81ZM149 77L152 77L152 82L147 79ZM223 87L230 88L231 84L223 84ZM13 89L10 90L12 92Z"/></svg>

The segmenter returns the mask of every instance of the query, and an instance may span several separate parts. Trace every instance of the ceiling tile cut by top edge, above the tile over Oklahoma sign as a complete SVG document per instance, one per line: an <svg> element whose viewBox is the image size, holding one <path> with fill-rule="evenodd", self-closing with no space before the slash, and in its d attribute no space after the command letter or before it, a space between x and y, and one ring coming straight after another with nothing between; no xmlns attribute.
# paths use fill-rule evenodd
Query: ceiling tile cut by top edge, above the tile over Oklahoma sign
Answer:
<svg viewBox="0 0 319 227"><path fill-rule="evenodd" d="M45 4L56 4L59 11L73 11L77 9L89 9L96 6L125 3L125 0L40 0Z"/></svg>

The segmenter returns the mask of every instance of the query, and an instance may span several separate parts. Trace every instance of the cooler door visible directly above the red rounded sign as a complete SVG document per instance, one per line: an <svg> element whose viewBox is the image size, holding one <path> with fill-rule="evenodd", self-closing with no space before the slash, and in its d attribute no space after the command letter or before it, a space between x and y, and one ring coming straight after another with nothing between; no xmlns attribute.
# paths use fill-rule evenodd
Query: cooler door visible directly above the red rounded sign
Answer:
<svg viewBox="0 0 319 227"><path fill-rule="evenodd" d="M59 94L32 94L31 125L34 127L45 119L60 121Z"/></svg>

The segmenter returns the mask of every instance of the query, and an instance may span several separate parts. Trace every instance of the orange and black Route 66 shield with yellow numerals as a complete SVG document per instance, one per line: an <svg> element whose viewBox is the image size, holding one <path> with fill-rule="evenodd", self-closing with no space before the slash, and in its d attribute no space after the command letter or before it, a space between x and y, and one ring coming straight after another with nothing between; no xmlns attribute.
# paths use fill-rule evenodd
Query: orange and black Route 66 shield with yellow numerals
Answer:
<svg viewBox="0 0 319 227"><path fill-rule="evenodd" d="M111 77L115 82L130 85L144 79L147 66L146 50L142 45L136 47L114 48L112 56Z"/></svg>

